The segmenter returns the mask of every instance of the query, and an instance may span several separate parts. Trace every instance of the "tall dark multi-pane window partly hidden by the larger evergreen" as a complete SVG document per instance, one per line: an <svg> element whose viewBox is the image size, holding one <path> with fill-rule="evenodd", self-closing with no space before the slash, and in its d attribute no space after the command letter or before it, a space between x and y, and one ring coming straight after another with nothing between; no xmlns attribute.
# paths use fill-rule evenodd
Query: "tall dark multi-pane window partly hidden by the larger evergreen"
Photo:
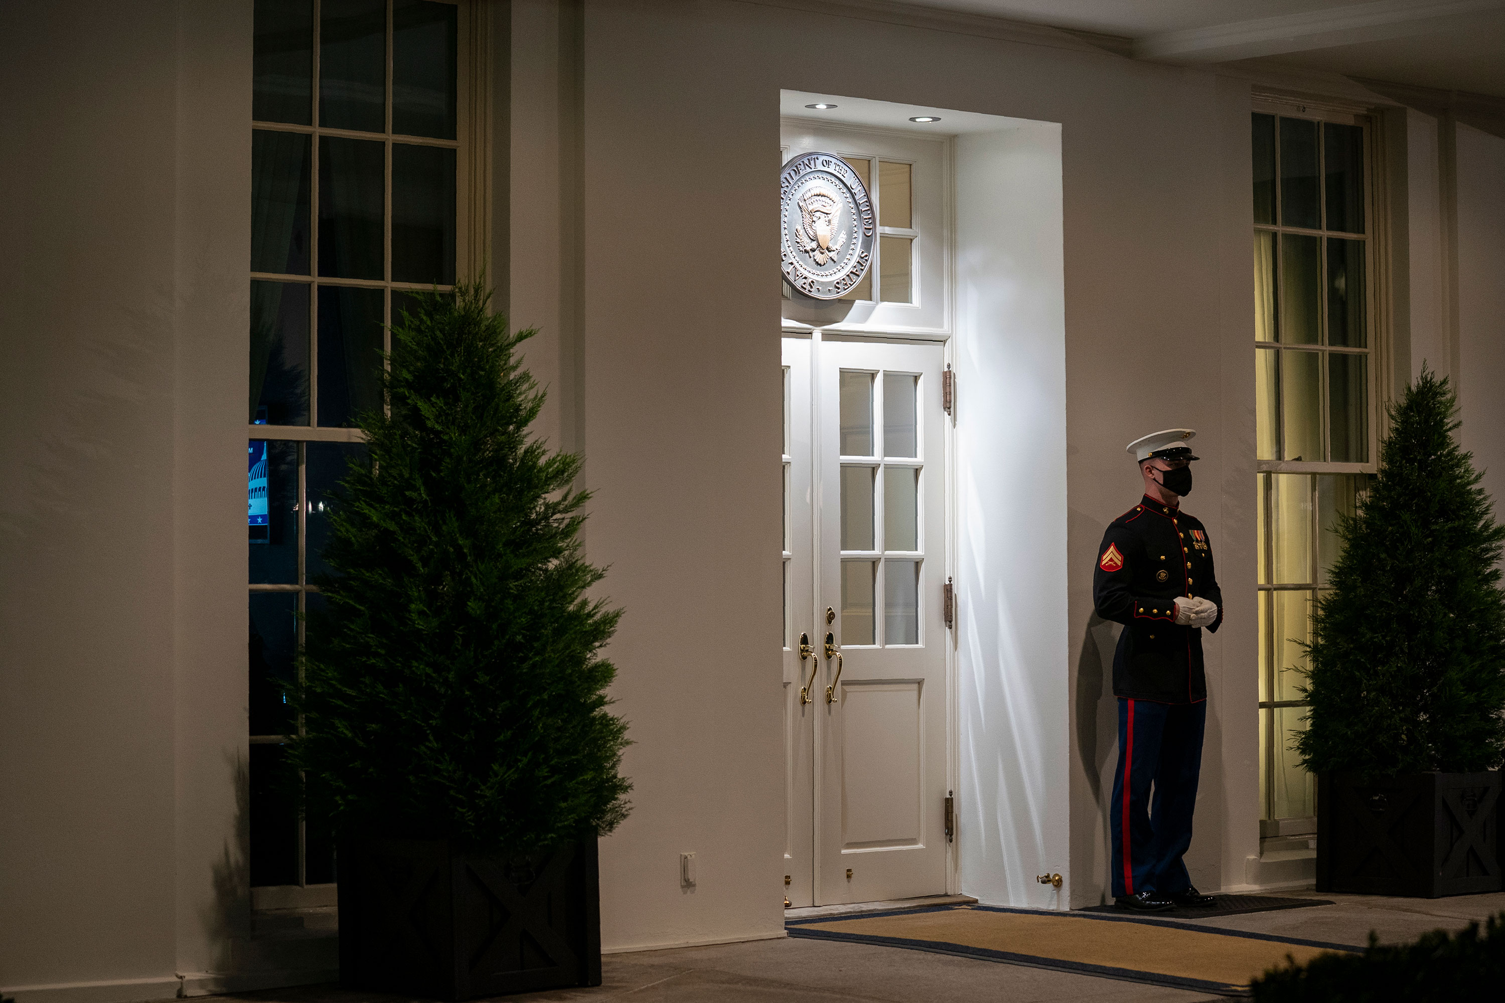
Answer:
<svg viewBox="0 0 1505 1003"><path fill-rule="evenodd" d="M334 489L381 408L387 325L458 253L456 3L256 0L251 99L250 877L263 905L334 881L272 783ZM278 892L280 890L280 892Z"/></svg>

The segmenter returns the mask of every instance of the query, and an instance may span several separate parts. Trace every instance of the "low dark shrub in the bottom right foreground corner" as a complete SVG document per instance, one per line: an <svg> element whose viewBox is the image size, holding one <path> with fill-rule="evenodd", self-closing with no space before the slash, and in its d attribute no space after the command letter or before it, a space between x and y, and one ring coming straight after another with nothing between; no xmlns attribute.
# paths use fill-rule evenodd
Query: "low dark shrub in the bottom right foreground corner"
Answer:
<svg viewBox="0 0 1505 1003"><path fill-rule="evenodd" d="M1288 961L1254 980L1255 1003L1457 1003L1499 998L1505 986L1505 913L1413 944L1382 947L1370 932L1362 955Z"/></svg>

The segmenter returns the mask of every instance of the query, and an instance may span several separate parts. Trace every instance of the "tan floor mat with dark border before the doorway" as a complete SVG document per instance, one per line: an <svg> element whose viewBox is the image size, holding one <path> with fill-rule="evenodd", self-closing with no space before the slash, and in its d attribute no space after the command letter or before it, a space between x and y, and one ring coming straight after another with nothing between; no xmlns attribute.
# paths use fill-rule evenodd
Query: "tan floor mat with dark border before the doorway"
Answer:
<svg viewBox="0 0 1505 1003"><path fill-rule="evenodd" d="M1353 944L1251 934L1103 913L956 905L786 923L790 937L930 950L1108 979L1245 995L1249 980L1285 961Z"/></svg>

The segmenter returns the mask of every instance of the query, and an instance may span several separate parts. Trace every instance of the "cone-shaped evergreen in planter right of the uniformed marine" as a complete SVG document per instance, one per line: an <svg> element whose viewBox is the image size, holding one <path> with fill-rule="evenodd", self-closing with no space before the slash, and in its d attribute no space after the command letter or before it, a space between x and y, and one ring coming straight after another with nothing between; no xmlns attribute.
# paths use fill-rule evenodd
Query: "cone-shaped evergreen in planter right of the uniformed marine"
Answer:
<svg viewBox="0 0 1505 1003"><path fill-rule="evenodd" d="M1505 758L1505 528L1455 414L1446 377L1424 368L1389 409L1368 496L1338 517L1306 645L1309 771L1472 773Z"/></svg>

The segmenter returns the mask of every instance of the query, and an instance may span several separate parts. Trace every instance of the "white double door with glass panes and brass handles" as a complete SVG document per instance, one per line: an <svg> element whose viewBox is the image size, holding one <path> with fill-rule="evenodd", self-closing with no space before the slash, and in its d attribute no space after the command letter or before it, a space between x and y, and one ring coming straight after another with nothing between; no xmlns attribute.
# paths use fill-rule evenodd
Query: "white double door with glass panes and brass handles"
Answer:
<svg viewBox="0 0 1505 1003"><path fill-rule="evenodd" d="M947 890L942 347L784 340L790 905Z"/></svg>

